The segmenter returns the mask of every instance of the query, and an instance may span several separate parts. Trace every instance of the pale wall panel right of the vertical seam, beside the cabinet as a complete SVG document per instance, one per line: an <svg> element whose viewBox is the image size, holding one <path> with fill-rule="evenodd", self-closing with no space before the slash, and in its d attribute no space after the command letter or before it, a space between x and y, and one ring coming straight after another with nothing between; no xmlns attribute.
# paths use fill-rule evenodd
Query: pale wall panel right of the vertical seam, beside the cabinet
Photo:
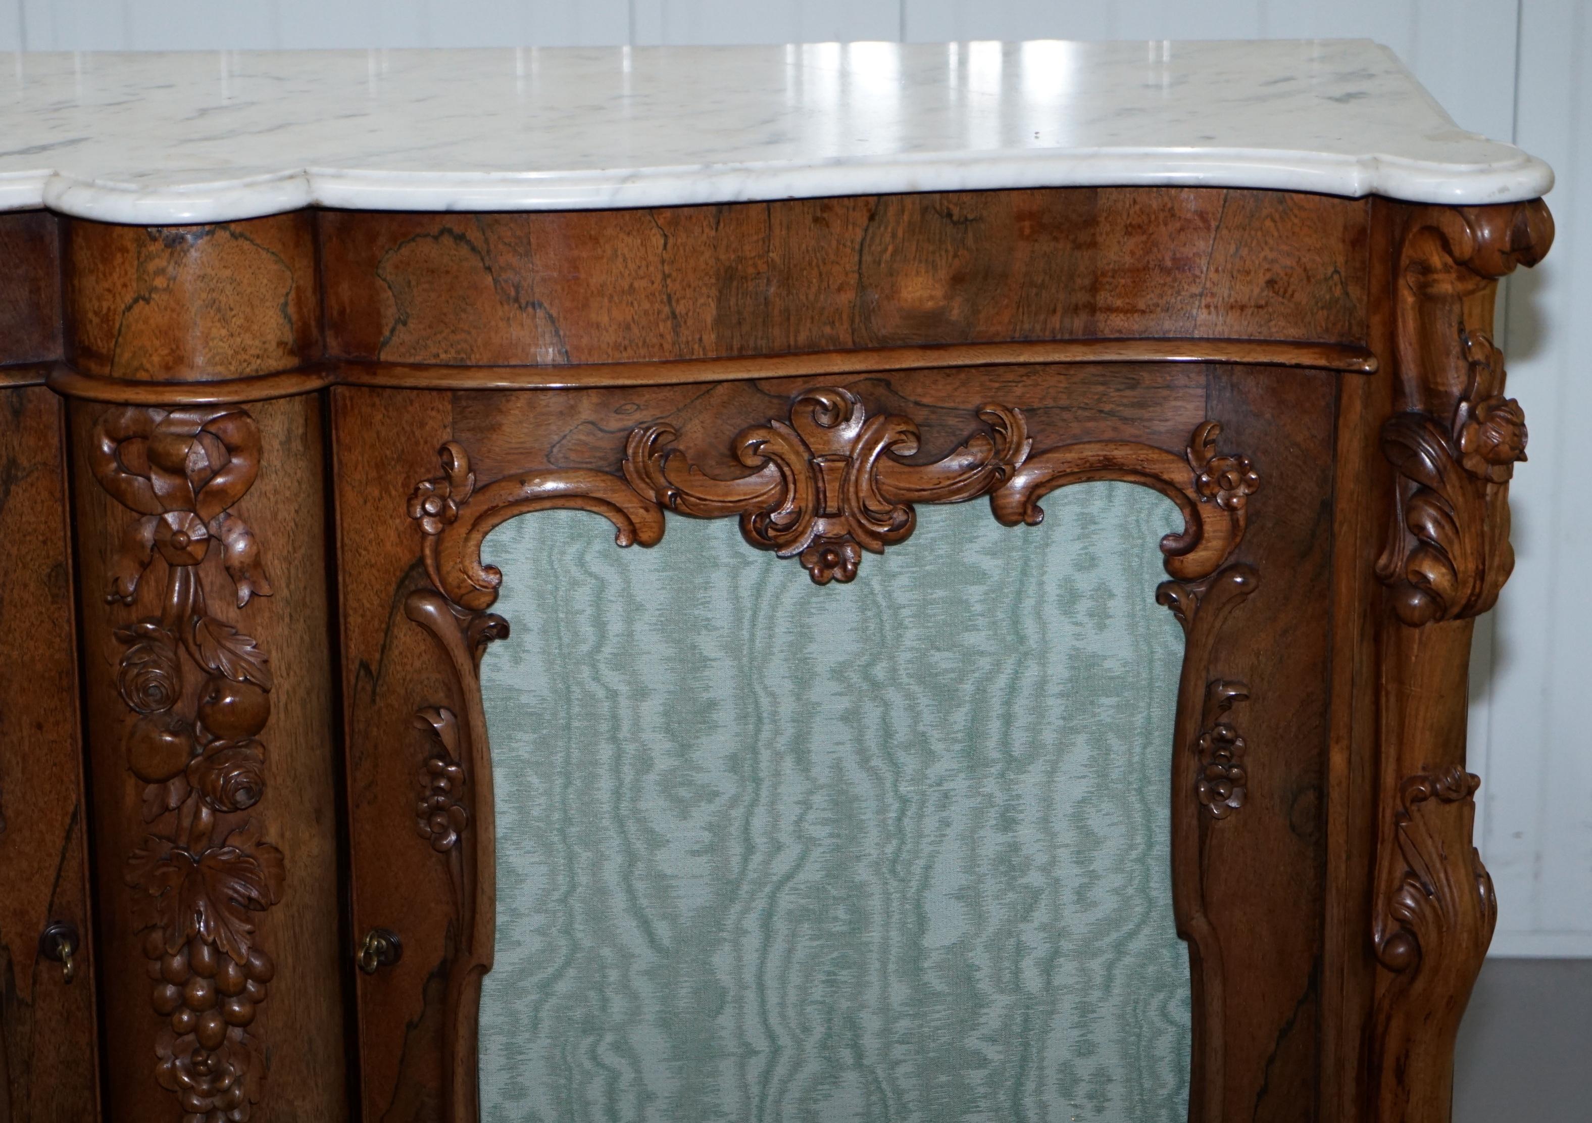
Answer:
<svg viewBox="0 0 1592 1123"><path fill-rule="evenodd" d="M1584 0L1522 10L1516 139L1547 159L1552 253L1511 280L1509 390L1532 425L1516 473L1516 572L1498 608L1482 855L1498 884L1493 949L1592 956L1592 13Z"/></svg>

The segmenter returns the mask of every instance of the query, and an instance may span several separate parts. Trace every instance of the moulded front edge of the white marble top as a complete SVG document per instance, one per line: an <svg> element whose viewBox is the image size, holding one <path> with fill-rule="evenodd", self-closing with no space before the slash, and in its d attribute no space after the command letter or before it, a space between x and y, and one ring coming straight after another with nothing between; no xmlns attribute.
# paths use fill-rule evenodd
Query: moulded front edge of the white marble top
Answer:
<svg viewBox="0 0 1592 1123"><path fill-rule="evenodd" d="M0 210L48 207L75 218L159 226L258 218L312 205L431 212L600 210L1065 186L1256 188L1481 205L1535 199L1547 194L1552 185L1552 169L1524 151L1506 162L1463 166L1313 151L1102 148L586 172L309 167L166 188L107 183L62 172L14 172L0 175Z"/></svg>

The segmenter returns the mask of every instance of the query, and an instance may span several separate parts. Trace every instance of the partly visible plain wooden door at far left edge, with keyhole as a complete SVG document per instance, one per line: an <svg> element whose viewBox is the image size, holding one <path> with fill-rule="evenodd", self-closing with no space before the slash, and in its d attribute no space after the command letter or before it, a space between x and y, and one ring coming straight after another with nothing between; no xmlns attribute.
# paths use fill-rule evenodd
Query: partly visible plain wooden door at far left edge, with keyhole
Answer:
<svg viewBox="0 0 1592 1123"><path fill-rule="evenodd" d="M99 1115L60 414L41 385L0 390L0 1120L13 1123ZM73 943L70 978L41 954L51 925Z"/></svg>

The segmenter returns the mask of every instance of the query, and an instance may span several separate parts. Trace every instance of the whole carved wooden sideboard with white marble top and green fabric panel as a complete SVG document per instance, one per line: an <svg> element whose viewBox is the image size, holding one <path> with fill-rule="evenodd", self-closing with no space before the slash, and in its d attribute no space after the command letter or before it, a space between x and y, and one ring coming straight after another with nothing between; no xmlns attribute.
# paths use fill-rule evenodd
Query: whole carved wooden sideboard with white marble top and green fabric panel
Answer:
<svg viewBox="0 0 1592 1123"><path fill-rule="evenodd" d="M3 81L0 1120L1449 1118L1551 177L1390 54Z"/></svg>

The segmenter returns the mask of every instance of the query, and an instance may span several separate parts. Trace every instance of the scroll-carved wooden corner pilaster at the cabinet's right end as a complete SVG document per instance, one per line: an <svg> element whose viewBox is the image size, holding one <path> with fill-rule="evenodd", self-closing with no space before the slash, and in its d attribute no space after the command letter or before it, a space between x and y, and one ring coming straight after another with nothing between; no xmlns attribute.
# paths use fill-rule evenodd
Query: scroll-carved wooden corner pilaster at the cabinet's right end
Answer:
<svg viewBox="0 0 1592 1123"><path fill-rule="evenodd" d="M1377 561L1388 612L1364 1090L1375 1123L1447 1123L1453 1039L1496 918L1471 843L1479 781L1463 768L1469 621L1514 565L1509 479L1527 444L1493 299L1500 277L1541 260L1554 226L1539 199L1412 207L1403 221L1382 427L1395 476Z"/></svg>

